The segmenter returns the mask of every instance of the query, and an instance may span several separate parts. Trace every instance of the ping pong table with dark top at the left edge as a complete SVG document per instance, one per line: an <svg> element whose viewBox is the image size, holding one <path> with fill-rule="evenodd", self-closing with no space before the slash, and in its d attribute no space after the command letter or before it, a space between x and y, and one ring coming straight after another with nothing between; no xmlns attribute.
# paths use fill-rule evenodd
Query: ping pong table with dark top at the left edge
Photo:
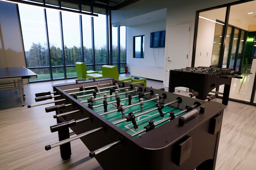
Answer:
<svg viewBox="0 0 256 170"><path fill-rule="evenodd" d="M19 89L22 106L24 106L25 94L23 87L23 80L25 78L37 77L31 70L25 67L4 67L0 68L0 81L13 81L10 83L3 83L0 91ZM18 86L16 85L18 81Z"/></svg>

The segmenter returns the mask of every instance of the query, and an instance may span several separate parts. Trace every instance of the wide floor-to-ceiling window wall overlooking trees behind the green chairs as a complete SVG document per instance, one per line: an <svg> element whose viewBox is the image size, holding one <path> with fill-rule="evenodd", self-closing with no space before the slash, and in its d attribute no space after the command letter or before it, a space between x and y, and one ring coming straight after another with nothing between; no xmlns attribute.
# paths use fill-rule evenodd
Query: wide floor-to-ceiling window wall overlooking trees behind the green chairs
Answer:
<svg viewBox="0 0 256 170"><path fill-rule="evenodd" d="M58 7L58 1L45 2ZM120 68L124 71L126 27L108 28L113 28L112 40L107 33L107 10L85 5L79 8L79 5L66 2L59 2L59 5L64 9L94 12L98 17L20 4L27 67L38 74L38 78L30 81L76 77L75 63L78 61L85 62L88 70L101 70L102 65L115 63L119 72ZM113 41L113 46L107 47L109 41ZM109 48L113 48L112 55L109 55ZM112 63L108 56L113 56Z"/></svg>

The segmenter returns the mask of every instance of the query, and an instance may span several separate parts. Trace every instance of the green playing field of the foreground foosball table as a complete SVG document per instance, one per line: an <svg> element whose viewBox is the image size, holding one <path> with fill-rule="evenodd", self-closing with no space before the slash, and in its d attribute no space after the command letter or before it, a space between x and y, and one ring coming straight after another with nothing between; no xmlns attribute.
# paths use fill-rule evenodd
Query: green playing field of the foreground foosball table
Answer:
<svg viewBox="0 0 256 170"><path fill-rule="evenodd" d="M101 90L101 91L103 91L103 90ZM123 92L124 91L120 91L119 93L123 93ZM91 94L91 93L89 92L89 93L85 93L85 94ZM109 91L106 90L106 93L109 96ZM81 93L81 94L79 94L77 96L81 96L81 95L84 95L84 94ZM148 95L150 95L150 94L148 94ZM132 95L132 96L134 96L134 95ZM99 97L103 97L103 94L97 95L96 99L99 98ZM119 95L119 97L120 97L120 99L123 99L123 98L126 97L126 95L122 94L122 95ZM155 97L155 95L153 97ZM88 97L81 97L81 98L78 98L77 100L78 101L86 101L89 98L90 98L90 96L88 96ZM144 101L146 101L146 100L147 99L144 99ZM108 103L111 102L111 101L115 101L115 97L109 97L107 99L107 101L108 101ZM131 100L131 104L138 103L138 102L139 102L138 97L134 97ZM100 105L102 103L103 103L103 99L96 100L96 101L94 101L94 106ZM121 101L120 103L124 103L125 106L128 106L128 100ZM86 105L86 106L88 105L88 103L83 103L83 104ZM155 101L149 101L149 102L144 103L144 111L147 111L147 110L155 108L156 107L155 104L156 104ZM107 108L108 108L107 109L108 111L116 109L116 102L113 103L113 104L108 104ZM98 114L104 113L104 107L100 106L100 107L93 108L93 111L95 111ZM152 111L150 113L146 113L146 114L143 114L143 115L141 115L139 117L136 117L135 120L136 120L137 125L138 125L137 129L134 129L133 124L131 122L122 122L122 123L117 124L117 126L131 135L131 134L133 134L135 132L138 132L139 130L142 130L146 125L148 125L148 121L153 120L154 122L157 122L159 120L162 120L164 118L169 117L169 112L170 111L173 111L174 113L178 113L181 110L173 108L171 106L165 106L162 109L162 111L163 111L163 114L164 114L163 118L160 116L158 110L154 110L154 111ZM133 112L133 114L135 116L136 116L136 114L141 113L140 105L136 105L136 106L127 108L126 111L125 111L126 115L128 115L129 112ZM113 112L113 113L102 115L102 117L104 117L105 119L107 119L108 121L113 123L113 122L122 120L122 113L121 112ZM166 121L164 123L167 123L167 122L168 121ZM162 123L161 125L163 125L164 123ZM143 133L141 133L141 134L143 134Z"/></svg>

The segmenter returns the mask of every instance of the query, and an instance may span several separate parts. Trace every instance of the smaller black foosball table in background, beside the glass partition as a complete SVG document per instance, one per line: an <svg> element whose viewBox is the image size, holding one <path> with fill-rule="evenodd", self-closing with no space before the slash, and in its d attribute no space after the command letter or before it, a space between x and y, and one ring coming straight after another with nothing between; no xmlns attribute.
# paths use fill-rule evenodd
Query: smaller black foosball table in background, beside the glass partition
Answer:
<svg viewBox="0 0 256 170"><path fill-rule="evenodd" d="M187 87L199 93L197 99L206 99L209 92L224 85L222 93L222 104L228 105L229 91L232 78L242 78L238 76L240 72L232 69L213 68L213 67L187 67L185 69L170 70L169 92L174 92L175 87Z"/></svg>

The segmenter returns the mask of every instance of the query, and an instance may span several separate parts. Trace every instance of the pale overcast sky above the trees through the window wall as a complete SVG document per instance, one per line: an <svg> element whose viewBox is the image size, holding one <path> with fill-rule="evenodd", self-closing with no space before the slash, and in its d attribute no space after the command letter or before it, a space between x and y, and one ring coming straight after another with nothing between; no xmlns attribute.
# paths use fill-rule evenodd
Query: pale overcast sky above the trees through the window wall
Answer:
<svg viewBox="0 0 256 170"><path fill-rule="evenodd" d="M41 45L46 47L47 40L43 9L36 6L19 4L19 13L25 51L28 51L30 49L32 42L36 44L40 43ZM57 10L46 9L46 14L50 45L61 48L59 12ZM94 44L96 49L99 49L102 46L106 46L106 16L103 14L98 15L98 17L93 18ZM64 45L66 45L67 47L73 47L74 45L80 47L81 43L79 14L62 12L62 25ZM90 16L82 15L82 28L83 45L87 48L91 48L92 39ZM121 46L125 47L125 27L121 27L120 36ZM113 45L114 44L117 44L117 33L113 34Z"/></svg>

